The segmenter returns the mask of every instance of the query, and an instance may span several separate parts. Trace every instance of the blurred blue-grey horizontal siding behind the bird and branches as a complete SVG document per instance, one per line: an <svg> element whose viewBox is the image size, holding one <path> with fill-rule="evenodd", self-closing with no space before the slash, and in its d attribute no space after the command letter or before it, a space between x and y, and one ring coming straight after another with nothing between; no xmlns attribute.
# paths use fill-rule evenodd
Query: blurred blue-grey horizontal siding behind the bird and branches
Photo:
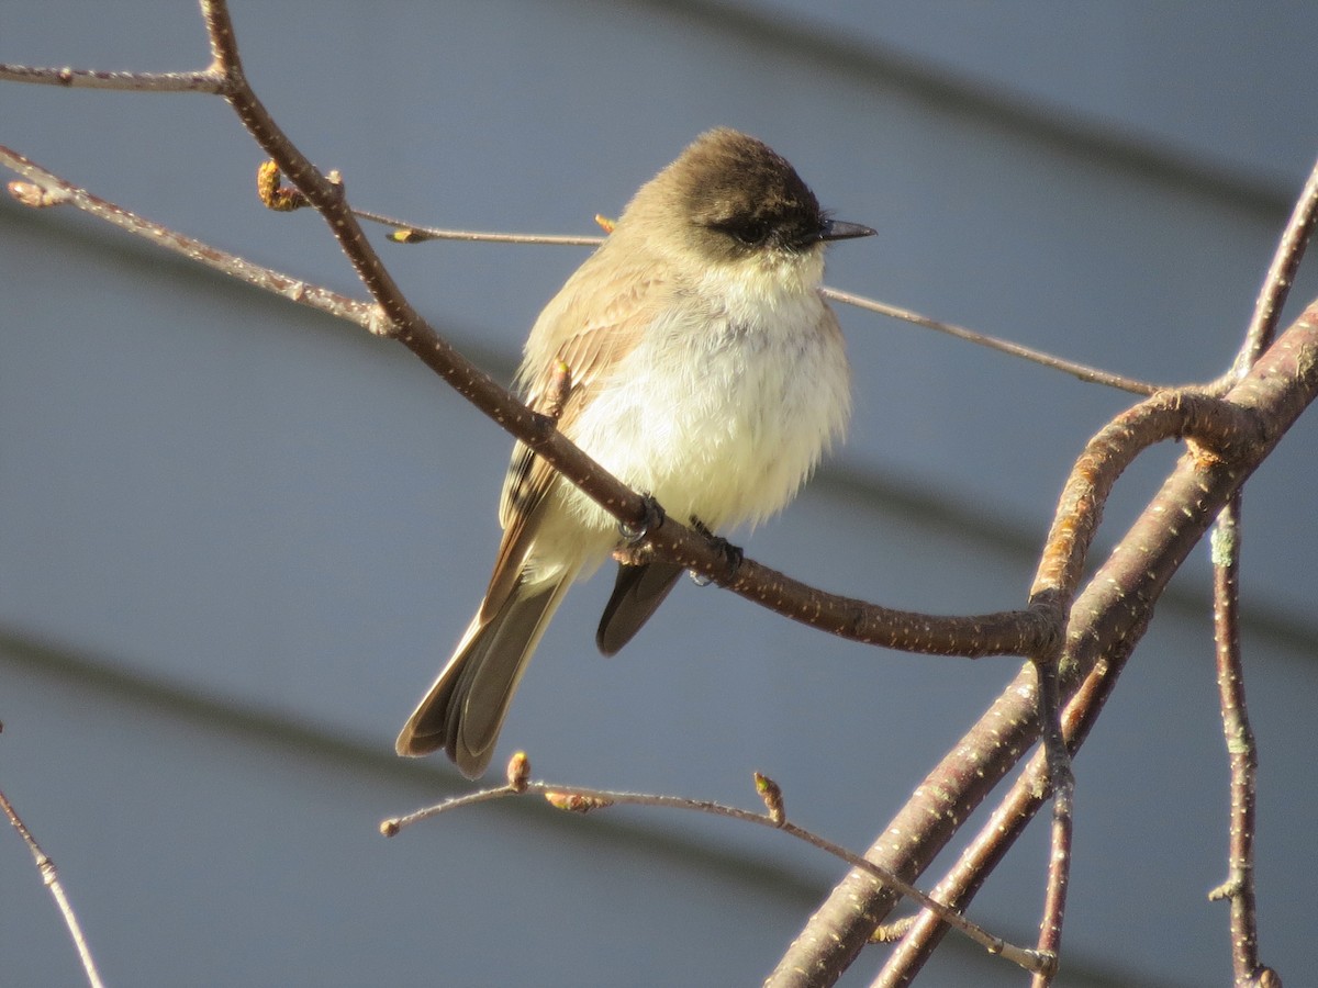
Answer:
<svg viewBox="0 0 1318 988"><path fill-rule="evenodd" d="M1227 368L1318 151L1302 3L232 7L261 99L360 207L594 233L594 213L730 125L879 231L832 253L830 285L1159 382ZM50 0L0 4L0 61L182 70L208 50L188 3ZM319 217L258 204L260 151L219 99L0 84L0 142L362 295ZM382 250L505 379L585 257ZM1292 314L1315 287L1301 279ZM1021 605L1074 456L1133 399L841 317L850 439L734 541L890 606ZM1296 918L1318 869L1315 422L1249 482L1244 528L1261 947L1292 977L1315 960ZM757 984L844 873L779 834L660 811L514 801L378 835L471 788L443 759L397 759L393 738L482 593L509 447L395 344L0 202L0 788L111 984ZM1122 481L1095 561L1178 452ZM610 582L569 597L496 767L521 747L536 776L751 808L758 769L796 822L863 848L1019 665L865 648L685 581L605 660ZM1060 984L1230 976L1227 908L1206 901L1228 805L1210 607L1205 545L1077 763ZM1044 830L971 909L995 933L1033 941ZM4 981L76 984L16 837L0 887ZM1023 976L949 938L924 983Z"/></svg>

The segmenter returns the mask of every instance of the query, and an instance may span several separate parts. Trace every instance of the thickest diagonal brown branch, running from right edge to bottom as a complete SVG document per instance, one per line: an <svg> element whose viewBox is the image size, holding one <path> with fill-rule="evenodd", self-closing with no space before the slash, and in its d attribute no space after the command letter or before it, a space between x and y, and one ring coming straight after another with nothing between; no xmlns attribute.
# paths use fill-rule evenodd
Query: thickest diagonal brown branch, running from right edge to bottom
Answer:
<svg viewBox="0 0 1318 988"><path fill-rule="evenodd" d="M1089 718L1102 710L1152 607L1190 549L1246 478L1318 398L1318 303L1311 304L1224 399L1261 423L1231 461L1190 451L1112 555L1075 598L1064 649L1064 689L1098 676ZM928 867L1039 734L1035 672L1027 667L927 777L866 858L908 881ZM851 872L788 947L766 981L832 984L892 906Z"/></svg>

